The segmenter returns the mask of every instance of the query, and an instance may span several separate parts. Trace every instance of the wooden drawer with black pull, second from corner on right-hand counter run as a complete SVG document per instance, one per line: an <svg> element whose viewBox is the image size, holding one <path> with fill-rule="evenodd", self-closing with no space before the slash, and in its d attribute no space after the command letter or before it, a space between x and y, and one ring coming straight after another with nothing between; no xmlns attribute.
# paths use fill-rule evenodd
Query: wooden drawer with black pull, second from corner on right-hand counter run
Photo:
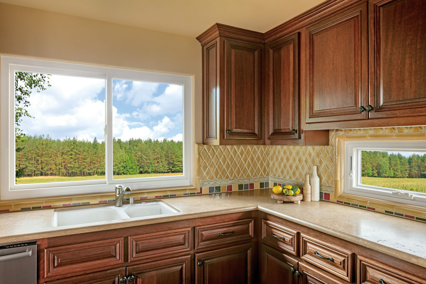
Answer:
<svg viewBox="0 0 426 284"><path fill-rule="evenodd" d="M301 234L301 258L346 281L352 282L354 253Z"/></svg>

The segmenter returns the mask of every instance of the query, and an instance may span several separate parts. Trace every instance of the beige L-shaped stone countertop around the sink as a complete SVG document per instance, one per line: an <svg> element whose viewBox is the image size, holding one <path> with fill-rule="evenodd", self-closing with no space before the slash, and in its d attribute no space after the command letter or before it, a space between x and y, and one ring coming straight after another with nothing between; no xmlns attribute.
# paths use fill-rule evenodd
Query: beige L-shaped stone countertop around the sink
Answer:
<svg viewBox="0 0 426 284"><path fill-rule="evenodd" d="M131 218L53 227L55 209L0 214L0 244L169 221L260 210L354 244L426 267L426 225L328 201L277 204L270 189L162 199L180 210L157 218Z"/></svg>

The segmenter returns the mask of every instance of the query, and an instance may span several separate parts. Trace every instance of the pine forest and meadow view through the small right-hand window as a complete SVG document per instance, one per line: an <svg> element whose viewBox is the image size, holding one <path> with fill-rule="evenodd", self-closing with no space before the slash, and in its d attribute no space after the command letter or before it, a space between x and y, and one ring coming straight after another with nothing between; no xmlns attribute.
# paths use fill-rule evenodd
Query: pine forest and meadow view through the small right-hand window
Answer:
<svg viewBox="0 0 426 284"><path fill-rule="evenodd" d="M416 192L426 192L426 154L362 151L361 182Z"/></svg>

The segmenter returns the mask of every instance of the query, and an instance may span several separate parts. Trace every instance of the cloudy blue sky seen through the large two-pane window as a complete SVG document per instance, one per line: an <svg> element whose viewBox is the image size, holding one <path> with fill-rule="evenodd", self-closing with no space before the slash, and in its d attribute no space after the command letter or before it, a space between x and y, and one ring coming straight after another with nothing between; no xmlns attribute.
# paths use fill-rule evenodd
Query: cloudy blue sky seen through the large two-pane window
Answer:
<svg viewBox="0 0 426 284"><path fill-rule="evenodd" d="M21 128L54 139L104 140L105 80L50 76L51 87L33 92ZM122 140L182 140L182 86L113 80L113 136Z"/></svg>

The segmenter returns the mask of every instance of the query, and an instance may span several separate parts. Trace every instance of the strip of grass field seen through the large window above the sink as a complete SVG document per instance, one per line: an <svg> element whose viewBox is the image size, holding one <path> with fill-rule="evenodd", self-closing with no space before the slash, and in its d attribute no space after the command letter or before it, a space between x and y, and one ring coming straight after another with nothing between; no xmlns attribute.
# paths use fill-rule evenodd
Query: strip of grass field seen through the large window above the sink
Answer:
<svg viewBox="0 0 426 284"><path fill-rule="evenodd" d="M138 175L114 175L114 179L118 178L150 178L163 177L167 175L182 175L182 173L165 173L165 174L138 174ZM65 177L65 176L40 176L40 177L23 177L18 178L16 184L40 184L43 182L58 182L58 181L92 181L105 179L104 175L89 175L82 177Z"/></svg>

